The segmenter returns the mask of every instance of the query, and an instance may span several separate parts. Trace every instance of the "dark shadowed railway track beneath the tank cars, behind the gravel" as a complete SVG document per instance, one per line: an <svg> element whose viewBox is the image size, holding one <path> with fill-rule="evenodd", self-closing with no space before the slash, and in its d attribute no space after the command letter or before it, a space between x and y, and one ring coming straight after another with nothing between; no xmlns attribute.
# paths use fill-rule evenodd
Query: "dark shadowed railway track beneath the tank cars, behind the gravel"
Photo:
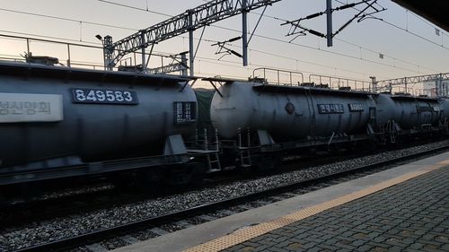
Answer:
<svg viewBox="0 0 449 252"><path fill-rule="evenodd" d="M218 177L215 176L207 178L201 188L216 187L216 185L219 184L225 184L249 178L260 178L267 175L276 175L278 173L286 172L289 170L301 169L302 167L312 167L332 163L335 161L341 161L344 159L364 157L367 154L373 154L373 152L345 154L344 156L330 155L320 158L320 161L315 161L315 156L306 157L295 161L287 161L277 169L271 169L268 172L264 172L262 174L234 174L234 172L232 171L224 172ZM123 190L119 188L110 186L109 189L103 189L84 194L75 194L44 200L36 200L29 203L22 202L18 204L6 205L3 207L2 213L0 215L0 226L7 228L11 226L18 226L23 223L43 222L50 218L95 211L114 205L130 204L133 202L150 199L155 196L170 196L192 189L196 189L196 187L171 189L165 192L160 192L157 195L148 196L136 192L123 192Z"/></svg>

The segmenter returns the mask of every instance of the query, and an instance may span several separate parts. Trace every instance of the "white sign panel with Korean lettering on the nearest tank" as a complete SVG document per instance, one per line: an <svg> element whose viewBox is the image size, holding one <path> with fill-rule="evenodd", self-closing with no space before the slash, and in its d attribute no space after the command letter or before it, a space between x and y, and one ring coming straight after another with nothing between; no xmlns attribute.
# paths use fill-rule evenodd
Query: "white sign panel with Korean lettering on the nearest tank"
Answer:
<svg viewBox="0 0 449 252"><path fill-rule="evenodd" d="M0 123L57 122L63 119L62 95L0 92Z"/></svg>

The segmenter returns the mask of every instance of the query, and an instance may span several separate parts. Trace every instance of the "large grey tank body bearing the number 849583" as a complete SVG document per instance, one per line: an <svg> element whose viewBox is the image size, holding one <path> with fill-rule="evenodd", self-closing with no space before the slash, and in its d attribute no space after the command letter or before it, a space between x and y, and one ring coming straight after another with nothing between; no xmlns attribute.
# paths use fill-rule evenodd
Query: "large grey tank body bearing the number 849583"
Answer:
<svg viewBox="0 0 449 252"><path fill-rule="evenodd" d="M4 167L161 154L167 135L194 131L195 94L179 80L54 66L2 64L0 71Z"/></svg>

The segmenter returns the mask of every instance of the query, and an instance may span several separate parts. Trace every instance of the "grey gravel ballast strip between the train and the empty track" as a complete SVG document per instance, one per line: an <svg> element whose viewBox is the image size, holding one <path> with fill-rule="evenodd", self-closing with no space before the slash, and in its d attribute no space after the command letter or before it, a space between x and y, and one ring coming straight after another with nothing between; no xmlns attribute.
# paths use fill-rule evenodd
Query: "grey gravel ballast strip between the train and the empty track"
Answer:
<svg viewBox="0 0 449 252"><path fill-rule="evenodd" d="M46 222L32 222L20 227L14 227L13 230L1 230L0 251L27 248L52 240L74 237L94 230L102 230L128 222L136 222L166 213L178 212L200 204L222 201L236 196L244 196L268 188L290 184L295 181L322 177L378 161L390 160L412 153L425 152L436 149L437 147L447 146L448 144L449 141L429 143L408 149L383 152L363 158L289 171L265 178L232 182L226 185L218 185L217 187L189 191L179 195L149 199L88 213L79 213L75 216L55 218Z"/></svg>

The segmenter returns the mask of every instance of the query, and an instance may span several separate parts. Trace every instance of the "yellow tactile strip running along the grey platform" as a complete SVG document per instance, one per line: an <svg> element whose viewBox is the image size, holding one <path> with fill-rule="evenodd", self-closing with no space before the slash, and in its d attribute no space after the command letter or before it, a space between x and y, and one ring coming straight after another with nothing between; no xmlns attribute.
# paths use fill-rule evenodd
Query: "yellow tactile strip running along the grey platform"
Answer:
<svg viewBox="0 0 449 252"><path fill-rule="evenodd" d="M346 204L350 201L356 200L358 198L371 195L375 192L383 190L387 187L392 187L394 185L400 184L401 182L407 181L411 178L417 178L420 175L426 174L435 169L439 169L449 165L449 160L441 161L436 163L435 165L429 166L427 169L423 169L421 171L410 172L398 178L392 178L385 182L374 185L373 187L368 187L357 191L352 194L348 194L346 196L340 196L339 198L330 200L328 202L324 202L321 204L313 205L311 207L304 208L295 213L287 214L281 218L275 219L270 222L260 223L255 226L247 227L242 230L236 230L231 234L225 235L224 237L210 240L206 243L200 244L198 246L188 248L183 250L185 252L200 252L200 251L220 251L225 248L231 248L237 244L245 242L247 240L256 238L260 235L266 234L269 231L277 230L282 228L288 224L298 222L304 220L307 217L310 217L314 214L321 213L326 211L332 207L338 206L340 204Z"/></svg>

